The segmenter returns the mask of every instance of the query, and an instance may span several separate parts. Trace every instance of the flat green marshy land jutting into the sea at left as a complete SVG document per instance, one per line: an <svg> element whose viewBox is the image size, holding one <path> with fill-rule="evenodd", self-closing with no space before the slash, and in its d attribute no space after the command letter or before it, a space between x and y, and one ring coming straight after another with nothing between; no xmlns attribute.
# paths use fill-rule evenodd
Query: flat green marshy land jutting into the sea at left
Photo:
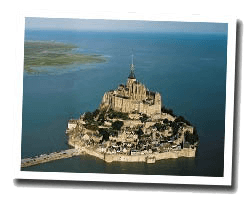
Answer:
<svg viewBox="0 0 250 200"><path fill-rule="evenodd" d="M43 71L37 67L66 67L73 63L99 63L105 59L99 55L72 53L76 46L58 42L26 41L24 43L24 69L28 73ZM39 70L38 70L39 69Z"/></svg>

